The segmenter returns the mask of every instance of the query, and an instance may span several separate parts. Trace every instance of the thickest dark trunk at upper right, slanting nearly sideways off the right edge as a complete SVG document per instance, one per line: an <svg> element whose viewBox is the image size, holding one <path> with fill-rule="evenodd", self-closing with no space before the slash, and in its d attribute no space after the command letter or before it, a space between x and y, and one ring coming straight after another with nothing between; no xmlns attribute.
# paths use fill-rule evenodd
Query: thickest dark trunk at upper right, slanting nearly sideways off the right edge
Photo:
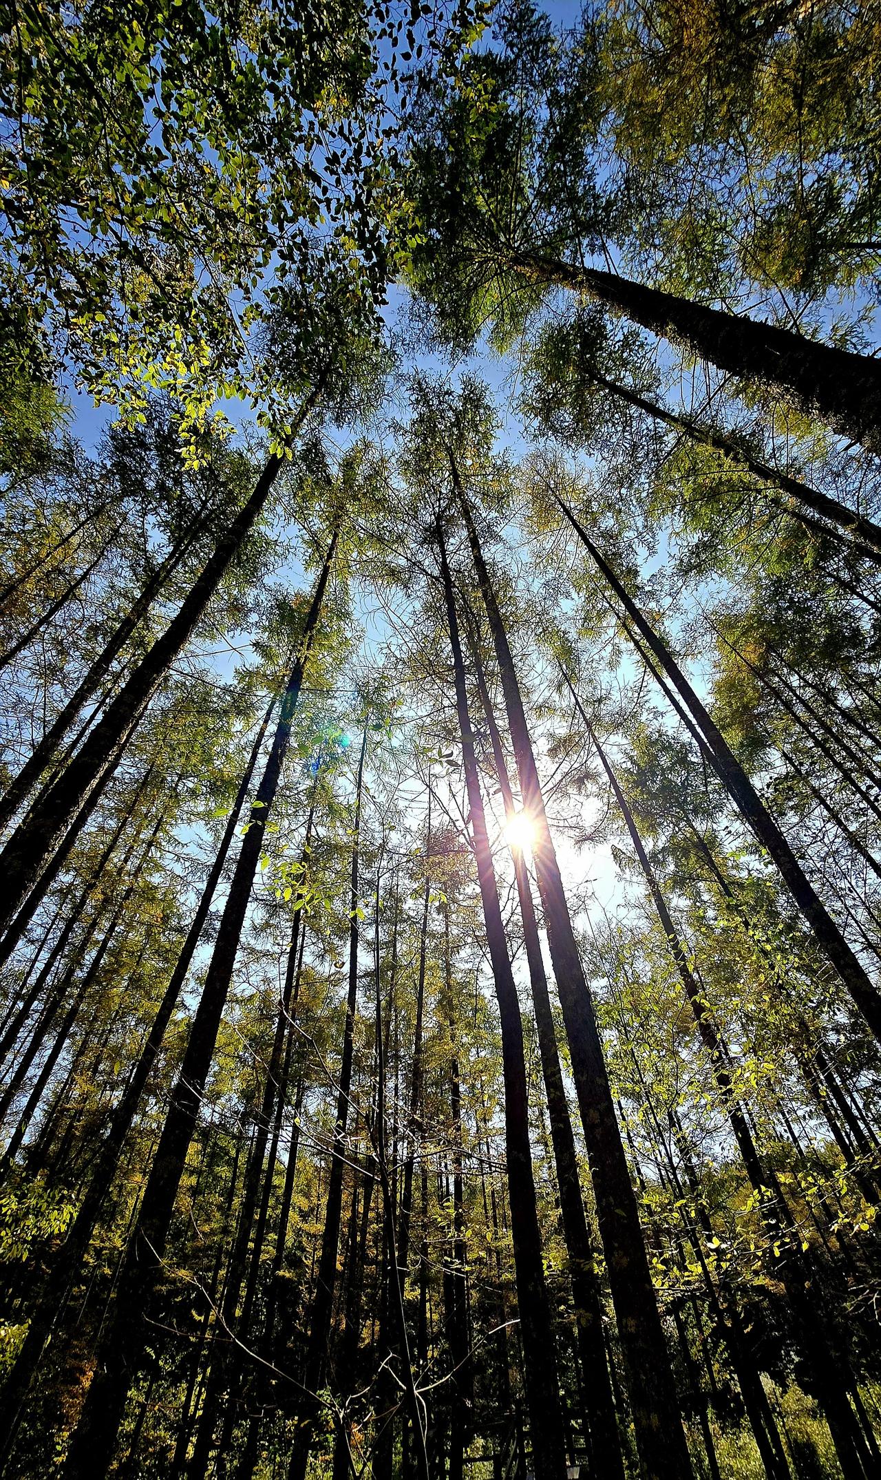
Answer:
<svg viewBox="0 0 881 1480"><path fill-rule="evenodd" d="M841 437L881 447L881 364L789 329L694 303L614 272L533 253L499 253L499 265L533 283L570 287L606 303L742 380L779 392Z"/></svg>

